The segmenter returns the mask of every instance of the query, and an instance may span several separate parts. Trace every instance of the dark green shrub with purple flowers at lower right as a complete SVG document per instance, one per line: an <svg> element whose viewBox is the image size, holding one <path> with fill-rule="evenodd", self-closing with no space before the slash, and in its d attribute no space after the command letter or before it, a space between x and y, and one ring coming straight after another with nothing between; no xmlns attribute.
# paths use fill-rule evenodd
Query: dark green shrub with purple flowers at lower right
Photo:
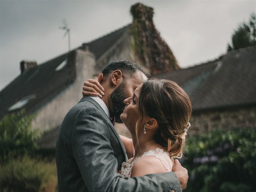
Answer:
<svg viewBox="0 0 256 192"><path fill-rule="evenodd" d="M256 191L255 129L190 136L184 156L189 173L185 192Z"/></svg>

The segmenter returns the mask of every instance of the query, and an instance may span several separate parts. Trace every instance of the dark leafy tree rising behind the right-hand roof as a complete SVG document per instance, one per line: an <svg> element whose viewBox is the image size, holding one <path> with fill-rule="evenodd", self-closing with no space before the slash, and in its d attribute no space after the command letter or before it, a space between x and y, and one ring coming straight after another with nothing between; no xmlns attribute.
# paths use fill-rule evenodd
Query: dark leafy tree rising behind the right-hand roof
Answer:
<svg viewBox="0 0 256 192"><path fill-rule="evenodd" d="M227 51L256 45L256 14L252 13L248 23L243 22L232 34L232 45Z"/></svg>

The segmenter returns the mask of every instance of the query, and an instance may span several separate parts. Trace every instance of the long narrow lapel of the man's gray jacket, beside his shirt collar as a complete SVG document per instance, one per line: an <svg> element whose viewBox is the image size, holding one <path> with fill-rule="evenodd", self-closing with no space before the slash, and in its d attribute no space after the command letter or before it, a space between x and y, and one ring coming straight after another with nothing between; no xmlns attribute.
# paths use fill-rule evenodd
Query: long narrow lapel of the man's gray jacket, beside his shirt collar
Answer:
<svg viewBox="0 0 256 192"><path fill-rule="evenodd" d="M108 122L108 126L110 127L110 129L112 130L112 132L115 134L115 136L116 136L116 138L117 138L117 140L118 140L118 142L119 142L119 144L120 144L120 146L121 146L121 148L122 148L122 152L123 152L124 159L125 159L125 161L127 161L128 158L127 158L127 155L126 155L126 150L125 150L125 148L124 148L124 144L123 144L123 142L122 142L122 140L121 140L119 134L116 132L116 129L114 128L112 122L111 122L110 119L108 118L107 114L106 114L106 113L104 112L104 110L102 109L102 107L101 107L94 99L92 99L92 98L90 98L90 97L88 97L88 96L83 97L78 103L83 102L83 101L89 101L89 102L91 102L92 104L94 104L94 106L96 106L96 108L98 108L99 110L101 110L101 112L102 112L104 115L106 115L106 119L107 119L107 122Z"/></svg>

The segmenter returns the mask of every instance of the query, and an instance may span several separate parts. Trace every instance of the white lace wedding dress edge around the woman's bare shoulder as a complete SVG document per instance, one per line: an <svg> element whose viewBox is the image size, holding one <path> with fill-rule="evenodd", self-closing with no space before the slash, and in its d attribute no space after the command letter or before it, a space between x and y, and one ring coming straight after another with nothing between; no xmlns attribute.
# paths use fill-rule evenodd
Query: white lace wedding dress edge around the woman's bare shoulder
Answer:
<svg viewBox="0 0 256 192"><path fill-rule="evenodd" d="M121 176L122 178L131 177L132 166L136 161L145 156L154 156L158 158L164 165L166 172L172 171L173 160L170 158L169 153L161 148L156 148L156 150L149 150L142 154L142 156L136 158L130 158L128 162L122 162Z"/></svg>

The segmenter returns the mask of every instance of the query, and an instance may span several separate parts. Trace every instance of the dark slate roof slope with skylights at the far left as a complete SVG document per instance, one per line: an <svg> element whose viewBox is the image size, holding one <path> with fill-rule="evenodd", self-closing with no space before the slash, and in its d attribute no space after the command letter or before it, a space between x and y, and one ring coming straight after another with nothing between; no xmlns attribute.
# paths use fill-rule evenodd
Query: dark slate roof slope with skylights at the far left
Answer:
<svg viewBox="0 0 256 192"><path fill-rule="evenodd" d="M0 117L8 112L10 106L30 95L35 95L35 98L26 104L26 112L33 111L63 90L65 85L72 83L68 82L68 66L58 72L55 71L66 58L67 55L63 54L29 69L6 86L0 92ZM73 71L71 79L74 75Z"/></svg>

